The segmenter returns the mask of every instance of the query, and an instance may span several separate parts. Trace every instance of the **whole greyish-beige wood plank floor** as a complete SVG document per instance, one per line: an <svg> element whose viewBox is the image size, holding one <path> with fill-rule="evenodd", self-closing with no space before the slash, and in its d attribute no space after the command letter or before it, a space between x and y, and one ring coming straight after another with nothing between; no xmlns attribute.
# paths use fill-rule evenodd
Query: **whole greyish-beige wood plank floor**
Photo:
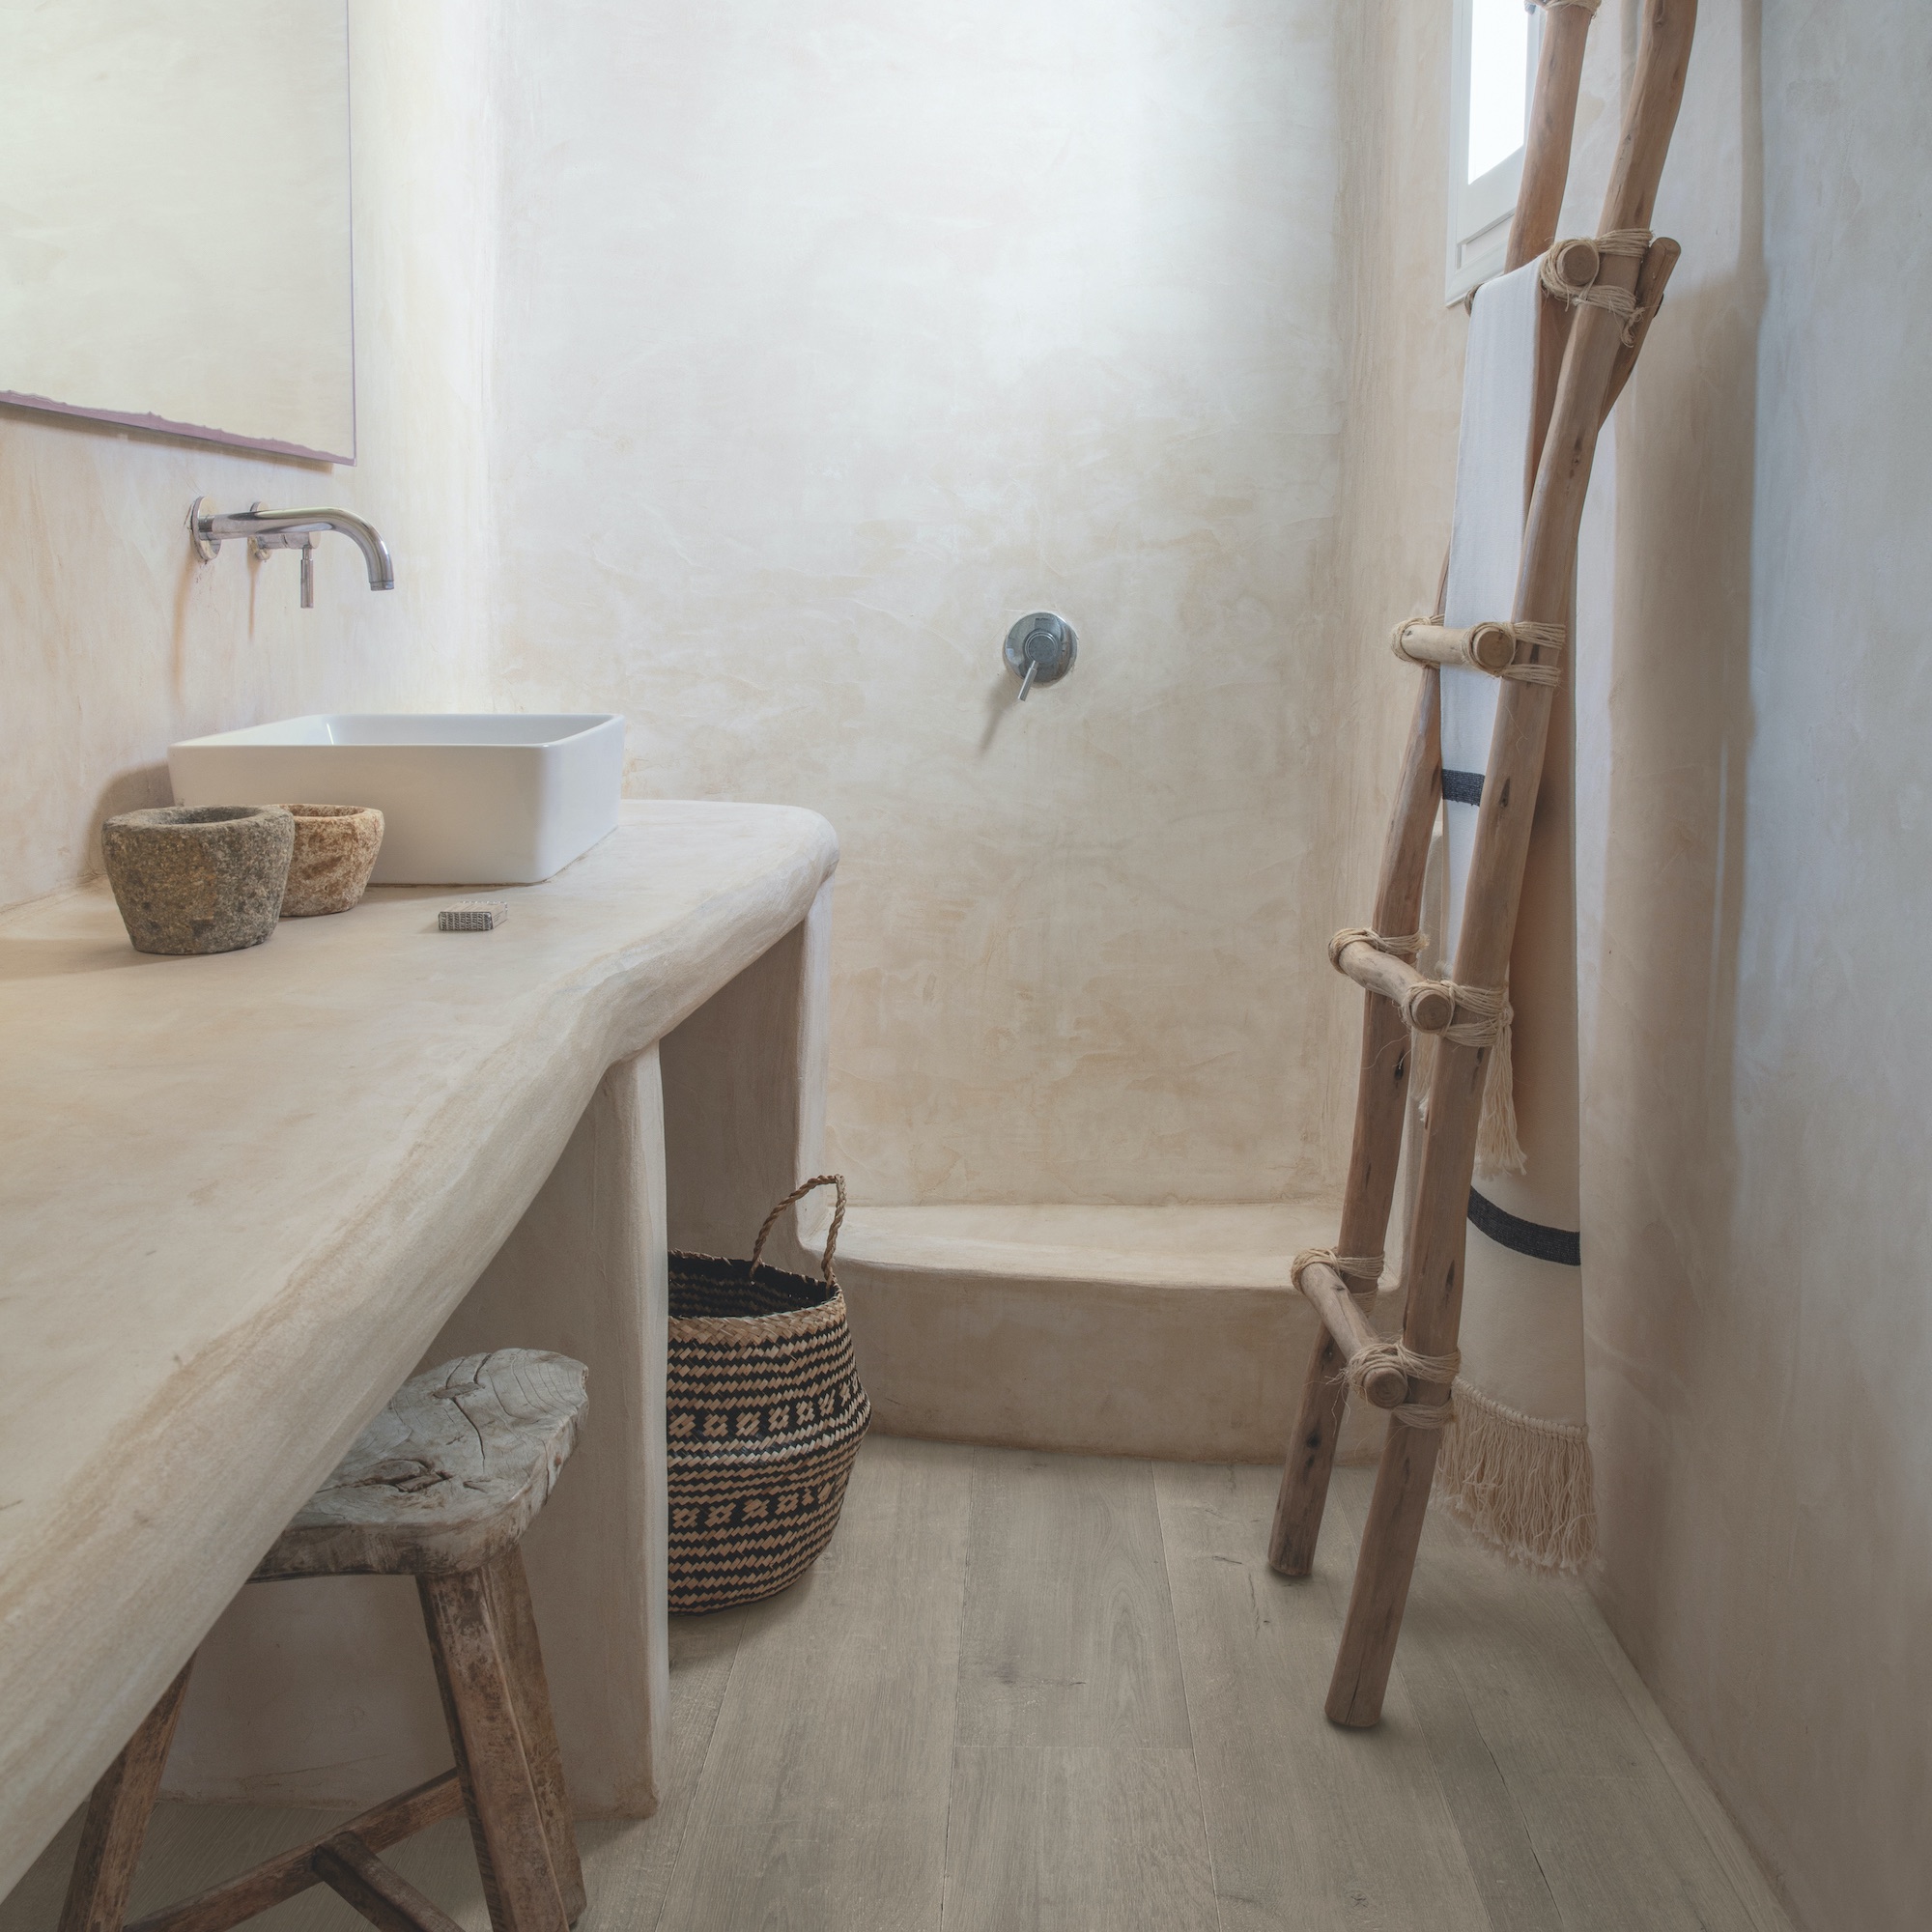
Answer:
<svg viewBox="0 0 1932 1932"><path fill-rule="evenodd" d="M1273 1470L873 1437L811 1577L672 1619L670 1797L582 1826L582 1932L1789 1932L1584 1590L1443 1517L1381 1727L1323 1719L1368 1488L1291 1584ZM77 1828L0 1932L52 1932ZM133 1911L315 1830L164 1804ZM460 1820L390 1857L485 1932Z"/></svg>

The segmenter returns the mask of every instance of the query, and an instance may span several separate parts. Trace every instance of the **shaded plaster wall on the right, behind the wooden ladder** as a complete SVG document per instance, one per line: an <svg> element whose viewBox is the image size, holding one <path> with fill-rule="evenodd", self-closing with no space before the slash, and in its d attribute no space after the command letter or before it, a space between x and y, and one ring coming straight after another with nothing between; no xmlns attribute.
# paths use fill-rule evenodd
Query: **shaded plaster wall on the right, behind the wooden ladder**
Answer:
<svg viewBox="0 0 1932 1932"><path fill-rule="evenodd" d="M1928 62L1706 0L1578 705L1598 1588L1818 1932L1932 1891Z"/></svg>

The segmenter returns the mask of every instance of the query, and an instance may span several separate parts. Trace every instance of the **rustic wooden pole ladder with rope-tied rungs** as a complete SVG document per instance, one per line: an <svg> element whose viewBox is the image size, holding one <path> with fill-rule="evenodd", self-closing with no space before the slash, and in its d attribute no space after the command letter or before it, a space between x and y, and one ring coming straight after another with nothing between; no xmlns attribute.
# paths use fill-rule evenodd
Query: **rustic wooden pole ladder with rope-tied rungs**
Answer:
<svg viewBox="0 0 1932 1932"><path fill-rule="evenodd" d="M1548 8L1544 15L1522 187L1509 234L1509 269L1534 261L1555 242L1592 14L1588 0L1573 0ZM1644 0L1636 77L1604 197L1602 236L1650 228L1658 178L1683 99L1694 25L1696 0ZM1623 290L1634 298L1638 313L1634 327L1627 330L1625 317L1602 301L1584 298L1577 305L1548 296L1542 301L1530 439L1534 481L1528 489L1511 624L1569 624L1577 531L1598 429L1629 381L1677 253L1677 243L1663 240L1650 242L1642 255L1598 255L1578 243L1557 249L1571 284L1598 292ZM1631 342L1623 340L1627 332ZM1447 580L1447 564L1443 572ZM1499 626L1476 630L1490 632L1492 638L1459 638L1418 626L1406 655L1439 655L1441 661L1495 668L1493 651L1484 645L1493 641ZM1501 636L1507 638L1509 632ZM1555 665L1561 657L1557 649L1534 643L1520 663ZM1441 670L1437 663L1424 663L1420 676L1422 688L1376 889L1378 935L1408 935L1422 922L1424 866L1441 800ZM1410 1356L1397 1366L1387 1350L1378 1352L1378 1337L1356 1300L1358 1293L1374 1289L1372 1279L1362 1279L1368 1273L1364 1265L1345 1271L1314 1260L1298 1269L1302 1291L1321 1312L1323 1335L1308 1358L1300 1414L1267 1546L1267 1561L1283 1577L1306 1577L1314 1567L1335 1441L1349 1399L1345 1372L1350 1358L1358 1362L1356 1381L1364 1397L1397 1412L1381 1447L1376 1495L1349 1598L1349 1621L1329 1683L1327 1716L1333 1723L1366 1727L1381 1718L1381 1698L1422 1538L1422 1515L1441 1447L1441 1428L1432 1426L1428 1410L1449 1403L1449 1387L1445 1381L1418 1379L1410 1372L1416 1366L1412 1356L1435 1358L1432 1372L1441 1374L1439 1364L1453 1358L1457 1347L1468 1190L1476 1165L1484 1074L1492 1055L1492 1043L1466 1037L1482 1032L1480 1020L1474 1026L1455 1026L1457 989L1478 989L1478 1005L1466 1005L1464 1010L1480 1014L1484 1005L1490 1010L1495 1005L1484 1003L1484 995L1499 995L1507 981L1551 701L1548 682L1526 682L1520 676L1501 682L1453 980L1428 980L1399 952L1366 939L1347 941L1347 935L1337 935L1333 949L1339 970L1364 989L1354 1142L1341 1231L1331 1250L1345 1264L1362 1258L1379 1273L1378 1258L1387 1240L1408 1105L1410 1030L1435 1036L1428 1119L1420 1136L1420 1175L1403 1248L1403 1347ZM1457 1037L1459 1032L1463 1039ZM1368 1374L1362 1374L1364 1368Z"/></svg>

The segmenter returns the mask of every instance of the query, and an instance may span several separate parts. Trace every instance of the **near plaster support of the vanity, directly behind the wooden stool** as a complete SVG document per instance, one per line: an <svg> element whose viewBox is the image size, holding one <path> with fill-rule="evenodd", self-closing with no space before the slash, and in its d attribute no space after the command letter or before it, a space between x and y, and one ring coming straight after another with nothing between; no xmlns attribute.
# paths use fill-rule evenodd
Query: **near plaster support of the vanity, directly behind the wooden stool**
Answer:
<svg viewBox="0 0 1932 1932"><path fill-rule="evenodd" d="M591 1372L524 1538L580 1816L647 1818L665 1766L665 1126L657 1047L597 1086L524 1219L423 1356L553 1349ZM450 1762L406 1577L243 1590L201 1646L168 1789L373 1804Z"/></svg>

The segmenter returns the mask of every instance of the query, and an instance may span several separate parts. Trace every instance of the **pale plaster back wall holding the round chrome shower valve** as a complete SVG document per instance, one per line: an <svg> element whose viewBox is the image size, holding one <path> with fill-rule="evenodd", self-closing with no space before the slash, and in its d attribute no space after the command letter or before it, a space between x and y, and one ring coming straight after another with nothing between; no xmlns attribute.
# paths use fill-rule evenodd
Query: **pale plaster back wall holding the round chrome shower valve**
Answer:
<svg viewBox="0 0 1932 1932"><path fill-rule="evenodd" d="M1333 1175L1333 37L1316 0L510 23L497 690L624 709L638 794L838 827L862 1200ZM1080 665L1020 709L1041 607Z"/></svg>

